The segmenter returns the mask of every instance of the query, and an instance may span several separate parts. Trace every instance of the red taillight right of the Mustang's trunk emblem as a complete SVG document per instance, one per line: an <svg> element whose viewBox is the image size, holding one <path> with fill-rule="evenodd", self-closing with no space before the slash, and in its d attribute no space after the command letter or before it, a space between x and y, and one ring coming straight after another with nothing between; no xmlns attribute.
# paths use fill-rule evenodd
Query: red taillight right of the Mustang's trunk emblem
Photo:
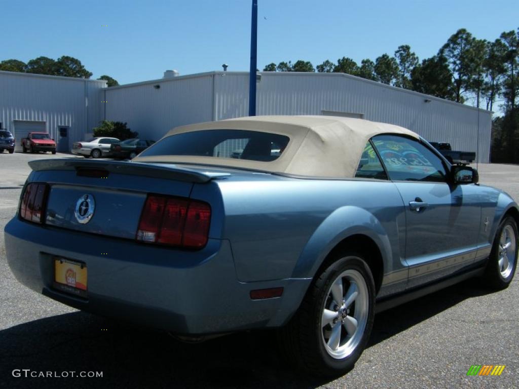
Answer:
<svg viewBox="0 0 519 389"><path fill-rule="evenodd" d="M149 195L136 240L188 248L202 248L209 238L209 204L177 197Z"/></svg>

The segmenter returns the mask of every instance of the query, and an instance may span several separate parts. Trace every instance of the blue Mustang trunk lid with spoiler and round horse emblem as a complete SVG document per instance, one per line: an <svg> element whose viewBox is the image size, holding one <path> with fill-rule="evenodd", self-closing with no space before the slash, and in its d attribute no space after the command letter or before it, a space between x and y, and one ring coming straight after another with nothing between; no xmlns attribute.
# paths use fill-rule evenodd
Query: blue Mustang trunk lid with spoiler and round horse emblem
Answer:
<svg viewBox="0 0 519 389"><path fill-rule="evenodd" d="M135 239L148 193L189 198L194 184L229 175L174 165L80 159L29 165L32 182L50 185L46 225L126 239Z"/></svg>

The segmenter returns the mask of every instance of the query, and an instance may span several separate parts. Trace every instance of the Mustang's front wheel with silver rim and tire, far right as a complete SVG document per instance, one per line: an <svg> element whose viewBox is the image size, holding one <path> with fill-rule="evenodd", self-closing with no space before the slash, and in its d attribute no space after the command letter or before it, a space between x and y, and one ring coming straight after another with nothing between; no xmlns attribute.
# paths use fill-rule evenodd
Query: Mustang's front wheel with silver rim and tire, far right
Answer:
<svg viewBox="0 0 519 389"><path fill-rule="evenodd" d="M485 269L484 276L490 286L504 289L512 282L519 251L517 240L515 219L507 216L499 224Z"/></svg>

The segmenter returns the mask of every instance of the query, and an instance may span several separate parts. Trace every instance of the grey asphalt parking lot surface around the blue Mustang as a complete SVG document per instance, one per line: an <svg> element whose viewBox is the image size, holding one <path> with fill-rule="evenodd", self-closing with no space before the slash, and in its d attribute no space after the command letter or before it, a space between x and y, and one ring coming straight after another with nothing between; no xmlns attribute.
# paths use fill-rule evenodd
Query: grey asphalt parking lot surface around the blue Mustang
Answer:
<svg viewBox="0 0 519 389"><path fill-rule="evenodd" d="M378 314L356 367L334 381L291 370L270 331L186 344L167 334L93 316L40 296L11 274L4 226L15 214L31 159L0 155L0 387L517 387L519 277L495 293L478 280ZM82 158L82 157L79 157ZM519 166L480 164L480 181L519 199ZM499 377L471 365L506 365ZM102 378L13 378L13 369L102 371Z"/></svg>

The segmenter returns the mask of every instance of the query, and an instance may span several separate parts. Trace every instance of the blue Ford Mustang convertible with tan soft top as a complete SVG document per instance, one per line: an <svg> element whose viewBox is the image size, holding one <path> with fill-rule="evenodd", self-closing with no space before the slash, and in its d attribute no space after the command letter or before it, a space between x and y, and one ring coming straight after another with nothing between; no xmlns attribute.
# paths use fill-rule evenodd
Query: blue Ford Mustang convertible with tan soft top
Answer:
<svg viewBox="0 0 519 389"><path fill-rule="evenodd" d="M476 275L505 288L517 263L510 196L391 124L240 118L131 162L29 164L5 228L22 284L183 337L279 328L315 374L353 366L375 312Z"/></svg>

